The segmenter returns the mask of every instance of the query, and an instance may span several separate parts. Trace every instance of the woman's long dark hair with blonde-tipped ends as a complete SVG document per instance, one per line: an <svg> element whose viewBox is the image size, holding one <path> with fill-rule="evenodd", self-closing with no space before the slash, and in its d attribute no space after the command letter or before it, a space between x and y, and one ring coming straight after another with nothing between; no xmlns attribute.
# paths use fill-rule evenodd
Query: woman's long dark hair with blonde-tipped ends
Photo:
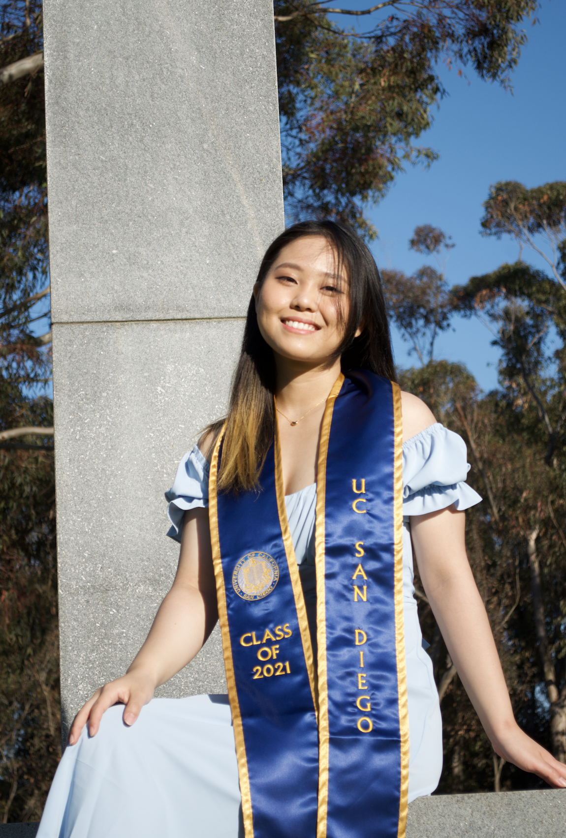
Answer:
<svg viewBox="0 0 566 838"><path fill-rule="evenodd" d="M335 221L301 221L284 230L267 248L257 272L257 282L262 284L283 247L305 235L323 236L335 251L339 267L345 269L350 279L350 308L343 322L344 338L335 350L335 357L340 356L342 370L364 368L397 380L379 271L367 246L348 227ZM360 326L362 331L356 338ZM273 441L274 391L273 350L262 338L252 297L247 308L240 360L232 379L219 489L237 492L257 485ZM214 422L209 430L216 435L221 426L222 422Z"/></svg>

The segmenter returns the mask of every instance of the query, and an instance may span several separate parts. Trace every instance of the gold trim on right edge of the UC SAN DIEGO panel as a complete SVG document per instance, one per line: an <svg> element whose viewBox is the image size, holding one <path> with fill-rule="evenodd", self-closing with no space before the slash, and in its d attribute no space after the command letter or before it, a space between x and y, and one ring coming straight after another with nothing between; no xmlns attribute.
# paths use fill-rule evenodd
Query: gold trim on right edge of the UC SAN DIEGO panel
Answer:
<svg viewBox="0 0 566 838"><path fill-rule="evenodd" d="M393 468L393 526L395 545L395 646L397 650L397 695L399 698L399 732L401 733L401 791L399 796L398 838L405 838L408 800L408 706L407 672L405 670L405 630L402 607L402 415L401 391L392 381L393 424L395 428L395 460Z"/></svg>

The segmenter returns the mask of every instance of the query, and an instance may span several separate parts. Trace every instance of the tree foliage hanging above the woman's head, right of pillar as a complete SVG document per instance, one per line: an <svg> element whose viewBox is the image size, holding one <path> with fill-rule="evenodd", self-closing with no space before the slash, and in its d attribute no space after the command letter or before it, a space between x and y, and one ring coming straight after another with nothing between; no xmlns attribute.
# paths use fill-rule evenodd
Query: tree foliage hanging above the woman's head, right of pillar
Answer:
<svg viewBox="0 0 566 838"><path fill-rule="evenodd" d="M404 163L428 165L437 157L413 145L444 96L436 63L454 60L507 85L526 42L520 25L537 6L391 2L364 17L369 28L360 33L331 23L321 3L276 0L288 215L335 218L375 237L366 205L385 194Z"/></svg>

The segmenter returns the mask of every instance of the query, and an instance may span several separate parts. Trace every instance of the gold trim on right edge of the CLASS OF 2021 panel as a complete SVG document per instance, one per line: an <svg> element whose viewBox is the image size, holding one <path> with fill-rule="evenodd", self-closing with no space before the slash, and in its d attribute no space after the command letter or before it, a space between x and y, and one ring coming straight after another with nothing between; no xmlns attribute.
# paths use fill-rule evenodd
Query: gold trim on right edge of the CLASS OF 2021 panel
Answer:
<svg viewBox="0 0 566 838"><path fill-rule="evenodd" d="M279 442L279 422L277 411L275 413L275 441L274 458L275 458L275 494L277 495L277 508L279 513L279 525L281 526L281 535L283 536L283 545L285 546L285 555L287 556L287 566L289 576L291 577L291 586L293 587L293 597L295 600L295 608L297 610L297 619L299 620L299 631L301 633L301 640L303 641L304 662L307 665L307 672L309 674L310 691L313 696L314 712L319 716L318 697L316 694L316 685L314 683L314 659L313 659L313 644L310 640L309 620L307 619L307 609L304 604L303 585L299 575L299 565L295 556L293 547L293 539L289 530L289 522L287 518L287 509L285 508L285 489L283 487L283 468L281 465L281 444Z"/></svg>

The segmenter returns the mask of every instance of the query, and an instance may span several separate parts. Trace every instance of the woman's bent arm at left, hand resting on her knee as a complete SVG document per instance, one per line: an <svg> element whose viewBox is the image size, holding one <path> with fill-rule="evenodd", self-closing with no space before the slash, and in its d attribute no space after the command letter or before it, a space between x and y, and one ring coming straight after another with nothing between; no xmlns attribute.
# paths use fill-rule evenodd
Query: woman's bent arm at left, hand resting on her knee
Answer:
<svg viewBox="0 0 566 838"><path fill-rule="evenodd" d="M94 736L104 711L118 702L126 705L124 722L132 725L156 687L164 684L202 648L218 619L210 527L207 509L184 514L179 566L171 590L159 606L148 638L127 674L96 690L75 716L69 744L88 722Z"/></svg>

